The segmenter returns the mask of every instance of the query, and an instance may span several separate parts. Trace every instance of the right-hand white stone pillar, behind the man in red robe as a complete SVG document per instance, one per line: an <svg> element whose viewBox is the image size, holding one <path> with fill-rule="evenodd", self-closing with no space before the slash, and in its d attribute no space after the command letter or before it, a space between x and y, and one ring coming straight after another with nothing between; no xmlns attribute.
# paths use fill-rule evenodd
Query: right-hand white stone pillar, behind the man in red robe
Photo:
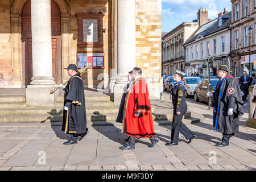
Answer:
<svg viewBox="0 0 256 182"><path fill-rule="evenodd" d="M127 75L136 65L135 0L117 2L117 79L114 85L114 104L119 105Z"/></svg>

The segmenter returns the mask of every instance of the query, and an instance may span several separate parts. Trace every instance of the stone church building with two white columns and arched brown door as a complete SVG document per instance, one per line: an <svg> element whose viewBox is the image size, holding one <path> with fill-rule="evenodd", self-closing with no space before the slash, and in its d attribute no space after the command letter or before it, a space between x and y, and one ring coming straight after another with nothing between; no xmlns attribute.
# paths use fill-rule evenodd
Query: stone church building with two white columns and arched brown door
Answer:
<svg viewBox="0 0 256 182"><path fill-rule="evenodd" d="M160 98L161 13L161 0L1 0L0 88L26 88L27 102L48 106L55 96L44 93L75 63L89 66L86 88L118 103L127 73L140 67Z"/></svg>

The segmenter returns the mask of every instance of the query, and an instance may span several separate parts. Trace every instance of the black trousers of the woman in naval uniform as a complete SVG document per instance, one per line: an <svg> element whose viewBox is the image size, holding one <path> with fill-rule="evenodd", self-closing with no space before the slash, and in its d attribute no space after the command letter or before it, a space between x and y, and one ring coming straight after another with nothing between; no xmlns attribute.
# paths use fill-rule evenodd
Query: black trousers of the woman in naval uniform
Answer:
<svg viewBox="0 0 256 182"><path fill-rule="evenodd" d="M171 142L179 143L179 133L184 135L184 137L188 140L193 137L193 133L188 129L186 125L181 121L183 115L186 113L187 108L184 108L180 112L179 115L176 114L176 110L174 109L174 117L172 119L172 131L171 131Z"/></svg>

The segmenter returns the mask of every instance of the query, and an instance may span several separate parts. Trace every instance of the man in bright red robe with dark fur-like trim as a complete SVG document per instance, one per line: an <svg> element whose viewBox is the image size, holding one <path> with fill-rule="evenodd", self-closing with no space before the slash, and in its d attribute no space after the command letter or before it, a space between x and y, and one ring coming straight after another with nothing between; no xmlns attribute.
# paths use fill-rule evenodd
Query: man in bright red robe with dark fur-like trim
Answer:
<svg viewBox="0 0 256 182"><path fill-rule="evenodd" d="M119 147L123 150L135 148L135 137L150 138L152 144L148 147L154 147L159 141L155 135L147 83L141 68L135 67L132 74L134 81L127 90L123 109L122 133L129 136L127 145Z"/></svg>

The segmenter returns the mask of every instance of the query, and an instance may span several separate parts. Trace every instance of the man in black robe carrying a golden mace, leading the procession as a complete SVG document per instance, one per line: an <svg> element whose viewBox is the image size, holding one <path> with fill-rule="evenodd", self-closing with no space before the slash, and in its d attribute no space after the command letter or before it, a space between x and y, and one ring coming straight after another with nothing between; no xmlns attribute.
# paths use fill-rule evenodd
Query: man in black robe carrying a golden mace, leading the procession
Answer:
<svg viewBox="0 0 256 182"><path fill-rule="evenodd" d="M81 135L81 140L88 133L86 127L86 113L85 113L85 98L84 98L84 84L81 76L77 73L77 66L69 64L68 75L71 78L67 86L60 84L61 88L65 89L64 94L64 111L63 111L63 125L62 131L65 134L71 134L71 139L63 144L77 143L78 136Z"/></svg>

